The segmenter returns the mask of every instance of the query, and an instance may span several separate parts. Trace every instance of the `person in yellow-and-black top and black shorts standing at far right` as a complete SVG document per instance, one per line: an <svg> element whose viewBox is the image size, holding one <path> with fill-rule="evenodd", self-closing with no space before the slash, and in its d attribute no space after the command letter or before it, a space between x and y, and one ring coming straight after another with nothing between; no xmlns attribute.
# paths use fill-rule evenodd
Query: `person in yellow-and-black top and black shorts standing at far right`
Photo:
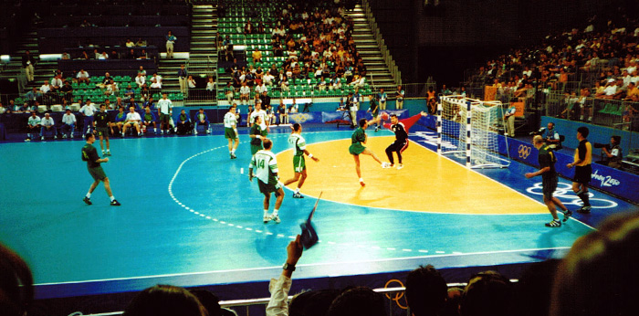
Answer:
<svg viewBox="0 0 639 316"><path fill-rule="evenodd" d="M569 168L575 167L575 177L572 180L572 191L581 198L583 206L577 210L580 213L591 212L590 196L588 196L588 184L592 176L592 144L588 142L590 131L587 127L581 126L577 129L577 139L579 146L575 150L574 162L568 163Z"/></svg>

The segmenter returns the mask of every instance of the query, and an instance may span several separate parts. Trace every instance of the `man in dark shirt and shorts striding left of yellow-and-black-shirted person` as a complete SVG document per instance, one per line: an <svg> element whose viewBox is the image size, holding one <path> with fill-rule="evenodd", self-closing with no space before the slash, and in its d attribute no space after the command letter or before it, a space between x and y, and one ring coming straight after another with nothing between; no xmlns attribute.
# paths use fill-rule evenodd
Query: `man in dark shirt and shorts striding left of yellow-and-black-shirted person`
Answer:
<svg viewBox="0 0 639 316"><path fill-rule="evenodd" d="M555 163L557 163L557 157L555 153L552 152L550 145L544 143L543 137L540 135L535 136L532 139L532 144L539 150L538 162L539 169L536 173L527 173L524 174L526 178L530 179L532 177L538 176L541 174L541 191L543 193L543 203L548 206L548 210L550 211L550 215L552 215L552 221L550 223L546 223L548 227L560 227L561 222L559 220L559 216L557 216L557 207L559 206L563 211L563 221L565 222L572 215L572 212L568 210L568 208L561 203L561 201L552 196L552 193L557 189L557 183L559 179L557 177L557 172L555 171Z"/></svg>

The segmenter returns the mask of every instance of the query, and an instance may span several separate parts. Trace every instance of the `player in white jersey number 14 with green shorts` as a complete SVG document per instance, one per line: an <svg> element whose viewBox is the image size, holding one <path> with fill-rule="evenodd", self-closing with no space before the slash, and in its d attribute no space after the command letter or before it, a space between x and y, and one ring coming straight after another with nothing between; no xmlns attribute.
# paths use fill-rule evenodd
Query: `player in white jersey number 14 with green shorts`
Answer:
<svg viewBox="0 0 639 316"><path fill-rule="evenodd" d="M284 200L284 190L282 190L282 183L279 182L278 160L275 158L275 154L271 152L273 142L267 138L262 142L264 142L264 149L254 154L253 158L251 158L251 163L248 165L248 181L253 181L253 169L255 169L259 192L264 195L264 223L266 224L272 220L279 224L278 212L279 206L282 205L282 200ZM273 214L268 216L271 193L275 193L275 209Z"/></svg>

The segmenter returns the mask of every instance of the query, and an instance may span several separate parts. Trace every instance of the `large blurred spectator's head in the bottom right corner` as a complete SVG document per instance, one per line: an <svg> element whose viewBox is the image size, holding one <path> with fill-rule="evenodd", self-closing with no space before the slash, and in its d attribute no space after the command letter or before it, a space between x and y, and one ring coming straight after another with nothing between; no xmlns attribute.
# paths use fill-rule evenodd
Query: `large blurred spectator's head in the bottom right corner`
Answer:
<svg viewBox="0 0 639 316"><path fill-rule="evenodd" d="M634 315L639 213L606 219L578 238L554 274L550 316Z"/></svg>

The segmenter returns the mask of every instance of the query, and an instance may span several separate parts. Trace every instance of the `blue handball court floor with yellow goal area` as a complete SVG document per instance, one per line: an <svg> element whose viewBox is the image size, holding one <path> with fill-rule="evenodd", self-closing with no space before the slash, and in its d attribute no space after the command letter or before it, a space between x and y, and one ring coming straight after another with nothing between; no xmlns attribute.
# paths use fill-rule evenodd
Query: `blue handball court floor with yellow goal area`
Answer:
<svg viewBox="0 0 639 316"><path fill-rule="evenodd" d="M111 140L110 162L102 166L118 207L109 205L102 184L91 196L93 205L82 202L92 182L80 160L83 140L0 144L0 242L31 265L37 298L130 292L157 283L236 284L218 296L267 297L267 286L241 290L238 284L278 277L288 242L299 234L319 192L313 223L320 241L304 252L294 274L315 281L299 289L335 285L321 279L429 263L453 271L561 257L603 217L632 206L592 190L591 215L575 213L559 228L546 227L550 214L541 203L541 179L523 175L533 167L513 161L508 169L468 170L435 154L434 133L420 125L410 131L402 170L382 169L361 156L362 188L348 153L352 131L315 125L302 132L320 160L307 159L309 178L301 190L306 198L292 198L296 184L289 185L281 224L263 224L263 195L257 179L250 183L247 176L246 128L240 128L235 160L215 130ZM393 133L373 131L367 130L368 147L386 161L384 148ZM281 180L293 175L289 132L278 127L269 134ZM99 141L94 145L100 150ZM569 180L560 179L556 195L570 209L579 208ZM300 284L294 282L291 293Z"/></svg>

